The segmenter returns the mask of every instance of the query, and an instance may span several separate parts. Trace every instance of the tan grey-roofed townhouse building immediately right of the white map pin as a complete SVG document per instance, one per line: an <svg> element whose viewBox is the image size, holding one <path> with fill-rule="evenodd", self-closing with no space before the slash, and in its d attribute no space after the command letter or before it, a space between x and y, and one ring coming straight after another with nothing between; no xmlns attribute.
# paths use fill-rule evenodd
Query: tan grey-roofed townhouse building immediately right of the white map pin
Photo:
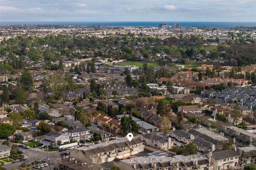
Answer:
<svg viewBox="0 0 256 170"><path fill-rule="evenodd" d="M160 136L152 133L140 135L140 140L144 141L144 145L148 145L155 149L172 149L174 139L170 137Z"/></svg>

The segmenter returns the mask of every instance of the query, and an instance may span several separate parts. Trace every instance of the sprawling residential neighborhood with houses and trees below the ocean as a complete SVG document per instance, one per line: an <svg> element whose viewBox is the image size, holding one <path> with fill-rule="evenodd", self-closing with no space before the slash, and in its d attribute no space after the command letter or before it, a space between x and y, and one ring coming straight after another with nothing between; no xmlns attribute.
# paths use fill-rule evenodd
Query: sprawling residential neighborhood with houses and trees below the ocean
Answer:
<svg viewBox="0 0 256 170"><path fill-rule="evenodd" d="M249 169L255 31L0 25L0 167Z"/></svg>

